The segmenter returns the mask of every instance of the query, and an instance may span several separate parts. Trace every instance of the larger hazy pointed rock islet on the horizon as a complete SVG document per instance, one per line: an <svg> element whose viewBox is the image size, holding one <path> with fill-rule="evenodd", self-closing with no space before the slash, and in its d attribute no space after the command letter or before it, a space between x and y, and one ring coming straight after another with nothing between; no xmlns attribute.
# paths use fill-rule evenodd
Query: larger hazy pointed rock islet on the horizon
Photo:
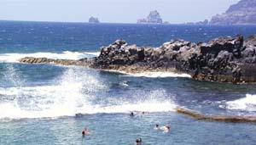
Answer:
<svg viewBox="0 0 256 145"><path fill-rule="evenodd" d="M154 10L148 14L146 19L137 20L137 24L162 24L163 20L158 11Z"/></svg>

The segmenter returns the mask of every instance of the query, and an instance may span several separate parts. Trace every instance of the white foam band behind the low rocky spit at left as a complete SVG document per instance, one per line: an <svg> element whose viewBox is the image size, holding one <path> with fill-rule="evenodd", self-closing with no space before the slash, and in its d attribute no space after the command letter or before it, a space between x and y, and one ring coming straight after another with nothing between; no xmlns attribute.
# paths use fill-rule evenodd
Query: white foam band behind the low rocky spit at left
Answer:
<svg viewBox="0 0 256 145"><path fill-rule="evenodd" d="M17 63L19 59L25 57L48 58L48 59L84 59L96 57L99 53L79 53L65 51L63 53L2 53L0 54L0 62Z"/></svg>

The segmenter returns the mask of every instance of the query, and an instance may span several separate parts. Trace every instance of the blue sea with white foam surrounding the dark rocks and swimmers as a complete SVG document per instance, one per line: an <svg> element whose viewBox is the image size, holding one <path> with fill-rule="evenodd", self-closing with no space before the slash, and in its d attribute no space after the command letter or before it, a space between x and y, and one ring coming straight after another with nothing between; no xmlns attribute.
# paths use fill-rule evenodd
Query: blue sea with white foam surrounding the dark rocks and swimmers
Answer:
<svg viewBox="0 0 256 145"><path fill-rule="evenodd" d="M255 123L205 122L174 110L256 115L255 85L18 62L93 57L119 38L158 47L171 39L207 42L236 34L254 35L256 26L0 21L0 145L133 145L138 137L143 145L255 144ZM171 131L156 131L155 124ZM90 136L81 136L84 126Z"/></svg>

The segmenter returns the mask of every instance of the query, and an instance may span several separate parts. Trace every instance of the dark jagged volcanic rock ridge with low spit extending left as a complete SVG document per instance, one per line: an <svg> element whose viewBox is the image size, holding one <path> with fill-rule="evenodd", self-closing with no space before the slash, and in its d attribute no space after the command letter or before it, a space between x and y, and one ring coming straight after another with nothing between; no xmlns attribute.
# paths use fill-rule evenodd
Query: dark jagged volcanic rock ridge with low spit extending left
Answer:
<svg viewBox="0 0 256 145"><path fill-rule="evenodd" d="M219 37L210 42L172 40L160 47L137 47L117 40L98 57L80 60L23 58L22 63L89 66L126 73L173 72L199 81L256 82L256 36Z"/></svg>

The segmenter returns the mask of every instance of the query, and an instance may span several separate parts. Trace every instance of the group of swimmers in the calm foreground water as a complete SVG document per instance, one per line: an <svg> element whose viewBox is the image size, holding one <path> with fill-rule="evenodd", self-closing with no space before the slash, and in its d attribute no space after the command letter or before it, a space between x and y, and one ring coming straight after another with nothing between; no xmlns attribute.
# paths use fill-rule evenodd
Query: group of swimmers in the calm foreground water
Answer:
<svg viewBox="0 0 256 145"><path fill-rule="evenodd" d="M145 112L142 112L142 114L145 114ZM133 116L135 116L135 114L133 112L131 112L130 116L133 117ZM164 131L165 133L167 133L167 132L171 131L171 127L169 125L160 126L160 125L156 124L154 126L154 130ZM87 127L85 126L84 130L82 131L82 136L85 137L85 136L89 136L89 135L90 135L90 132L88 131ZM143 142L143 140L141 137L137 138L137 140L136 140L137 145L141 145L142 142Z"/></svg>

